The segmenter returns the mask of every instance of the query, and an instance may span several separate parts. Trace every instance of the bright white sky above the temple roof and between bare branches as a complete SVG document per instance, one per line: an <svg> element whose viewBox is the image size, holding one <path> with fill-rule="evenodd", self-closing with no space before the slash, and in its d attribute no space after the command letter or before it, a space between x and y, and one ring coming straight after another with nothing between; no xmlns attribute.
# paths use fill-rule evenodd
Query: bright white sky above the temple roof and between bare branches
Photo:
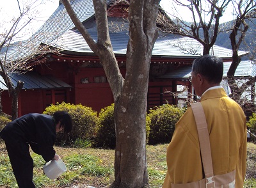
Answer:
<svg viewBox="0 0 256 188"><path fill-rule="evenodd" d="M5 20L10 20L12 19L14 16L18 16L19 15L19 5L18 2L20 4L20 8L22 9L22 5L24 3L31 3L35 0L2 0L2 2L0 3L0 17L1 19L5 19ZM31 29L29 29L29 32L33 33L35 32L37 29L39 29L40 26L42 26L42 24L44 24L45 20L47 20L51 14L54 12L54 10L56 10L56 8L58 8L59 5L59 1L58 0L37 0L38 2L36 4L34 4L33 10L36 11L36 13L33 13L33 18L35 20L33 20L32 26L34 28L34 31L31 31ZM166 11L166 13L172 13L173 10L171 8L171 2L172 0L161 0L161 6L164 8L164 10ZM42 3L40 4L40 6L38 6L38 3ZM182 16L182 19L189 21L191 16L189 15L189 11L188 10L180 10L180 16ZM35 17L36 15L36 17ZM171 17L172 18L172 17ZM226 22L229 20L232 20L232 14L225 14L225 16L221 17L221 22ZM2 20L1 20L2 21ZM8 26L8 23L4 23L6 26ZM1 25L0 25L1 27ZM3 26L2 26L3 27ZM31 28L31 26L29 27ZM1 28L0 28L1 31ZM28 33L28 30L25 31L26 33Z"/></svg>

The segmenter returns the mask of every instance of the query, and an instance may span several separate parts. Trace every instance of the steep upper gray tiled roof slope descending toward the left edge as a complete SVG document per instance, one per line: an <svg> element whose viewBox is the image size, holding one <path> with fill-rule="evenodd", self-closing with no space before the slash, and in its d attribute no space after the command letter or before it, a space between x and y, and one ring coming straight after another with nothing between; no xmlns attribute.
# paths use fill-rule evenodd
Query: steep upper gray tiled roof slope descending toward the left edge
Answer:
<svg viewBox="0 0 256 188"><path fill-rule="evenodd" d="M81 22L90 19L90 17L94 15L92 1L76 0L72 1L71 4ZM40 43L51 43L52 40L55 40L58 36L63 35L63 33L73 27L74 24L65 10L64 5L60 4L55 12L52 13L51 17L45 21L44 25L28 38L28 40L19 42L19 46L10 46L8 49L8 57L14 61L14 59L21 59L29 54L33 54L33 52L38 49ZM4 53L4 51L1 51L1 53Z"/></svg>

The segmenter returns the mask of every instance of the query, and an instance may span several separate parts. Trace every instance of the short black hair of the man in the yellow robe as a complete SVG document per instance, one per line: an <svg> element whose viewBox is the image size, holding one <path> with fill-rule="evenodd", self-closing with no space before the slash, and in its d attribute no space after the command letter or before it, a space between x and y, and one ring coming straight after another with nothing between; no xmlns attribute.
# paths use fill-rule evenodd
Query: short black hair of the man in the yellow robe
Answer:
<svg viewBox="0 0 256 188"><path fill-rule="evenodd" d="M220 84L223 77L223 60L212 55L201 56L193 61L192 72L201 74L212 84Z"/></svg>

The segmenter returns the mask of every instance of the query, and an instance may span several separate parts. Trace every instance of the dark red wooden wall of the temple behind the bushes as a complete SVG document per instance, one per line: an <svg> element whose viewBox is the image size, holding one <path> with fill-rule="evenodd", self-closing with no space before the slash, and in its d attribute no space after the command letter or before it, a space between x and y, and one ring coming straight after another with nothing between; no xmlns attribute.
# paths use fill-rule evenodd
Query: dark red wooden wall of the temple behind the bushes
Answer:
<svg viewBox="0 0 256 188"><path fill-rule="evenodd" d="M125 68L120 68L125 75ZM19 116L27 113L42 113L45 107L70 102L92 107L94 111L110 106L114 100L103 68L76 68L67 62L51 62L50 65L38 65L34 71L41 75L54 75L61 81L67 82L72 88L58 90L22 90L19 97ZM175 104L172 95L164 91L172 91L174 82L158 81L148 84L148 109L166 104ZM3 111L11 114L11 98L7 91L2 94Z"/></svg>

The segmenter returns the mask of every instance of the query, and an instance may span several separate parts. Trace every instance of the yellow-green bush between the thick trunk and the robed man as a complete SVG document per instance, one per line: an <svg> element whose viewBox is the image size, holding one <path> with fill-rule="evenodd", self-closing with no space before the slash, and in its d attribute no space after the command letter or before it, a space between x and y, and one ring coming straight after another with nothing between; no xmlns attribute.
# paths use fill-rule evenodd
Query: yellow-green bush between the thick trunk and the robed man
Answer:
<svg viewBox="0 0 256 188"><path fill-rule="evenodd" d="M170 104L150 109L147 114L150 118L149 145L169 143L175 130L175 124L179 121L184 111Z"/></svg>

